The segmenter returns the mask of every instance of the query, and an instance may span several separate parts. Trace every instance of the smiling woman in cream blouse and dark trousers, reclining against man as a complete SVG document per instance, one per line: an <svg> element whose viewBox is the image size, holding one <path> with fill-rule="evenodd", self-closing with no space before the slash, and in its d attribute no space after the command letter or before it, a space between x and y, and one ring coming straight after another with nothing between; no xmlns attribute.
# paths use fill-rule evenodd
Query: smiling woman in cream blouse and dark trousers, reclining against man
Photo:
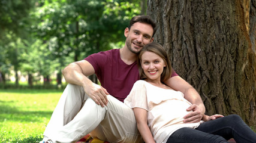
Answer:
<svg viewBox="0 0 256 143"><path fill-rule="evenodd" d="M182 92L164 84L171 63L164 48L152 42L138 55L140 79L125 99L134 110L138 130L147 142L256 142L256 133L237 115L204 115L198 123L183 123L191 103Z"/></svg>

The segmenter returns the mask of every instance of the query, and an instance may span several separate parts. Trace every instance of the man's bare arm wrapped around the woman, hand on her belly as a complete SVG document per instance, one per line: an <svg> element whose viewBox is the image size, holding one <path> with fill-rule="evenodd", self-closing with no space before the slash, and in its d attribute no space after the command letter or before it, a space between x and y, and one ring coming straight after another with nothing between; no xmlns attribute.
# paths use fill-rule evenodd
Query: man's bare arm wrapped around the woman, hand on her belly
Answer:
<svg viewBox="0 0 256 143"><path fill-rule="evenodd" d="M184 122L199 122L204 115L205 107L198 92L180 76L171 77L165 82L165 84L176 91L182 92L184 94L184 98L192 103L192 105L187 109L187 111L192 110L192 112L184 117Z"/></svg>

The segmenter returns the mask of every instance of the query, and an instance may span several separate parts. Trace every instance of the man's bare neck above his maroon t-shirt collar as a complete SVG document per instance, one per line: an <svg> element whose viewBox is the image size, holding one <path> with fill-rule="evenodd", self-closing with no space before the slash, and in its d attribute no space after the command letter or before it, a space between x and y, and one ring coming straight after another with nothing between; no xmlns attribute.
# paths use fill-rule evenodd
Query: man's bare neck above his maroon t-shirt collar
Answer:
<svg viewBox="0 0 256 143"><path fill-rule="evenodd" d="M129 51L129 49L125 46L120 49L120 57L121 60L128 65L134 63L137 60L137 54L134 54L133 52Z"/></svg>

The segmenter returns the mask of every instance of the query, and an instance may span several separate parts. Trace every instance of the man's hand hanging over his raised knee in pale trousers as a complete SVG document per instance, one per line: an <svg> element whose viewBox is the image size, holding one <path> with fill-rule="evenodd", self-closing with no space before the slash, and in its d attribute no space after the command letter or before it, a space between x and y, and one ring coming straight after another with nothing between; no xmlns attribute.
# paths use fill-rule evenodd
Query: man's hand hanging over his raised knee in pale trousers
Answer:
<svg viewBox="0 0 256 143"><path fill-rule="evenodd" d="M109 93L105 88L95 83L92 83L91 86L84 86L83 88L85 89L86 94L88 94L96 104L101 105L101 107L107 105L107 95L109 95Z"/></svg>

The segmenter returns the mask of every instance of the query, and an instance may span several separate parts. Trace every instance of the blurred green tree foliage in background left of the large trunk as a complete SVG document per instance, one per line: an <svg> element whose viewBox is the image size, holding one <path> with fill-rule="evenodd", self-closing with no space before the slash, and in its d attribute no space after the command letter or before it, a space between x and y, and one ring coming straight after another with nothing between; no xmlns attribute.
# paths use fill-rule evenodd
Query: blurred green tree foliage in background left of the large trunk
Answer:
<svg viewBox="0 0 256 143"><path fill-rule="evenodd" d="M57 73L88 55L121 48L124 29L140 14L138 0L1 0L0 71ZM9 77L9 76L8 76ZM16 80L19 80L16 77ZM59 80L59 79L58 79Z"/></svg>

